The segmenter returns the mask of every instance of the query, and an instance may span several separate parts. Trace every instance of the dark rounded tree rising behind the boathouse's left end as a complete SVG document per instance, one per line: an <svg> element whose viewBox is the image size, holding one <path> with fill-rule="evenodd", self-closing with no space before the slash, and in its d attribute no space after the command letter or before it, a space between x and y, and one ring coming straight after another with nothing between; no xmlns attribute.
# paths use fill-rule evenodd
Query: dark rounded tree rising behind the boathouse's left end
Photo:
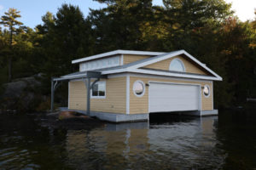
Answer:
<svg viewBox="0 0 256 170"><path fill-rule="evenodd" d="M92 54L90 23L84 20L79 7L67 4L59 8L56 16L47 13L43 21L38 28L45 32L42 47L48 62L44 72L56 77L75 71L71 60Z"/></svg>

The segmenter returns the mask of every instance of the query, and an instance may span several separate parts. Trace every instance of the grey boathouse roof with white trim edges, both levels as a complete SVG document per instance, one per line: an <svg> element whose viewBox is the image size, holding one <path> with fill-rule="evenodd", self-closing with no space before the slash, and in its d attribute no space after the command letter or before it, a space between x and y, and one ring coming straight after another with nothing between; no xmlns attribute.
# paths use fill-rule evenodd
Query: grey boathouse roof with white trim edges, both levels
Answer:
<svg viewBox="0 0 256 170"><path fill-rule="evenodd" d="M139 52L139 51L129 51L129 50L116 50L113 52L108 52L106 54L99 54L96 56L91 56L95 58L101 58L104 56L108 56L111 54L154 54L157 55L152 58L147 58L147 59L142 59L140 61L127 64L127 65L122 65L119 68L112 69L112 70L102 70L102 71L84 71L84 72L78 72L78 73L73 73L69 74L63 77L58 77L54 78L55 81L62 81L62 80L72 80L72 79L79 79L79 78L86 78L86 77L91 77L91 78L106 78L107 75L110 74L119 74L119 73L125 73L125 72L133 72L133 73L141 73L141 74L148 74L148 75L156 75L156 76L165 76L165 77L183 77L183 78L191 78L191 79L198 79L198 80L212 80L212 81L222 81L222 77L219 77L217 73L212 71L210 68L207 67L207 65L204 65L201 63L198 59L195 59L192 55L187 53L185 50L178 50L174 51L171 53L158 53L158 52ZM195 61L196 64L200 65L203 69L211 73L212 76L208 75L193 75L193 74L187 74L185 72L171 72L171 71L154 71L154 70L145 70L143 69L143 66L145 65L151 65L155 62L159 62L164 59L170 59L172 57L175 57L177 55L184 54L189 59L192 59ZM75 60L74 60L75 61ZM83 60L84 61L84 60ZM76 61L76 62L82 62Z"/></svg>

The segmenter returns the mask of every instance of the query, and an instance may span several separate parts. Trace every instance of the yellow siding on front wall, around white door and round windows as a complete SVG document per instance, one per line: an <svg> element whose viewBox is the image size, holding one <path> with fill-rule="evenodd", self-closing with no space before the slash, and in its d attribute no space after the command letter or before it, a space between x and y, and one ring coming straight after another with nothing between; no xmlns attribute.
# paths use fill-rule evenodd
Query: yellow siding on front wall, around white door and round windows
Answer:
<svg viewBox="0 0 256 170"><path fill-rule="evenodd" d="M145 84L149 81L155 82L176 82L176 83L189 83L189 84L201 84L203 87L207 84L210 87L210 96L206 98L201 90L201 110L213 110L212 105L212 83L210 82L189 82L189 81L179 81L179 80L168 80L162 78L148 78L148 77L130 77L130 114L138 113L148 113L148 87L146 86L146 91L143 97L137 97L133 94L133 83L137 80L143 81Z"/></svg>

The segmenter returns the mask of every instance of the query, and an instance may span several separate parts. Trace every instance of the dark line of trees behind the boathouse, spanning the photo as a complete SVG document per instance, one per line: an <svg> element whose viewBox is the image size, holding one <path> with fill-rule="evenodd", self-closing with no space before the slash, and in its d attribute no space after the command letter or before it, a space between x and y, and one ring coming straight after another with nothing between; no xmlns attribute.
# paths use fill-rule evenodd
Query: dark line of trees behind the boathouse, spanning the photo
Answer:
<svg viewBox="0 0 256 170"><path fill-rule="evenodd" d="M256 18L242 22L224 0L95 1L107 7L85 17L64 3L33 29L9 8L0 22L0 83L43 73L42 94L49 94L51 77L78 71L73 59L115 49L185 49L224 78L214 83L216 105L256 98Z"/></svg>

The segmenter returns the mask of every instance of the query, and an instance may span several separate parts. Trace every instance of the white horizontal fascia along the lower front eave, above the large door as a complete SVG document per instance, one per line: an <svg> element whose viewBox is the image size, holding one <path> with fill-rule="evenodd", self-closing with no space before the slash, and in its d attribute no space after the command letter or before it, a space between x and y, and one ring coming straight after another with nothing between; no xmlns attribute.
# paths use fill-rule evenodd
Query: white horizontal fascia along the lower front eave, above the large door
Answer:
<svg viewBox="0 0 256 170"><path fill-rule="evenodd" d="M172 72L161 72L161 71L148 71L143 69L119 69L113 71L103 71L102 75L105 74L115 74L121 72L134 72L134 73L143 73L143 74L150 74L150 75L157 75L157 76L166 76L166 77L184 77L184 78L194 78L194 79L202 79L202 80L215 80L221 81L222 78L218 77L207 77L207 76L198 76L198 75L186 75L186 74L178 74Z"/></svg>

